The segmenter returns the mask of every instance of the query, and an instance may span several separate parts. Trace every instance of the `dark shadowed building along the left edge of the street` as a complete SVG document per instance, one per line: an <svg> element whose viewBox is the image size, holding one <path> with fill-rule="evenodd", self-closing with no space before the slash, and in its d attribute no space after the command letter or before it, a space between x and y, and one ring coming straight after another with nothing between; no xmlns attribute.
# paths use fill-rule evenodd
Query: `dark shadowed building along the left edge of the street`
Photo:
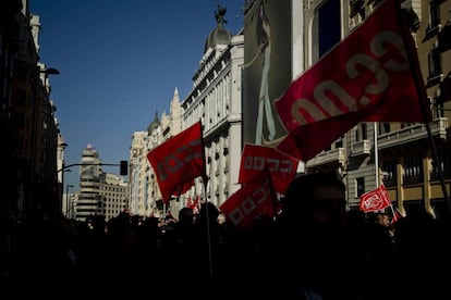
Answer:
<svg viewBox="0 0 451 300"><path fill-rule="evenodd" d="M4 224L39 222L61 209L57 180L59 124L50 75L39 58L39 16L28 1L0 4L0 130L5 141L0 215Z"/></svg>

